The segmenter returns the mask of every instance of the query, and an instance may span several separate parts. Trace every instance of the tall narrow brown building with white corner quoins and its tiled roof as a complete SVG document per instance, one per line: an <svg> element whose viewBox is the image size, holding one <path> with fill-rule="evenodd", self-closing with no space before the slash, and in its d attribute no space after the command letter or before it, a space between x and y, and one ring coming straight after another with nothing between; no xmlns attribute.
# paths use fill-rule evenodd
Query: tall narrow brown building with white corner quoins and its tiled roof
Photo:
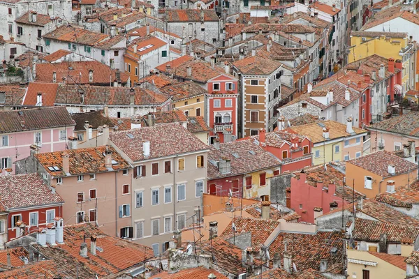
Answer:
<svg viewBox="0 0 419 279"><path fill-rule="evenodd" d="M277 127L283 73L281 63L253 52L251 56L233 63L233 73L241 86L239 137L258 135L260 129L272 132Z"/></svg>

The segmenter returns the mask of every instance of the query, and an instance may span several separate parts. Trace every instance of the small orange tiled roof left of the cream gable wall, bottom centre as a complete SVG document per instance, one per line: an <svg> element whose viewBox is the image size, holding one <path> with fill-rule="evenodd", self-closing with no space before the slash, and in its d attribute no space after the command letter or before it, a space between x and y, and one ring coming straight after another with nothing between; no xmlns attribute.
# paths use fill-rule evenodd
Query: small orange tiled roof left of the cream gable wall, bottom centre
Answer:
<svg viewBox="0 0 419 279"><path fill-rule="evenodd" d="M279 223L274 220L236 217L233 218L226 229L224 229L221 236L233 236L233 230L231 227L233 223L236 227L236 234L251 232L251 248L253 248L253 251L260 250L263 243L265 243L267 238L279 225Z"/></svg>

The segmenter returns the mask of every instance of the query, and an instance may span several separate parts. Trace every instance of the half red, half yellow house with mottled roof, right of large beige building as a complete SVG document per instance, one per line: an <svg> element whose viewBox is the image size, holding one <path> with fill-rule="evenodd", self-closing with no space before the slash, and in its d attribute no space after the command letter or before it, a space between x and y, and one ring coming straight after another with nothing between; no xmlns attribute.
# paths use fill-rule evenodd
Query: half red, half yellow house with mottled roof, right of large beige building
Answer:
<svg viewBox="0 0 419 279"><path fill-rule="evenodd" d="M267 178L281 172L281 160L253 139L220 144L208 153L208 191L217 196L270 195Z"/></svg>

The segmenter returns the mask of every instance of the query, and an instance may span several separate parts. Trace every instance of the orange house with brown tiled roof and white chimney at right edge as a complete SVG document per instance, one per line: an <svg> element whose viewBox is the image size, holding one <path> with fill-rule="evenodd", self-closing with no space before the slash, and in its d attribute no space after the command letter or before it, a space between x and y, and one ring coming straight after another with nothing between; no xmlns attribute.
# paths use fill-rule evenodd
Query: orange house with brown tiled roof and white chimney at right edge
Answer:
<svg viewBox="0 0 419 279"><path fill-rule="evenodd" d="M384 150L346 161L346 183L368 198L409 186L417 173L416 163Z"/></svg>

